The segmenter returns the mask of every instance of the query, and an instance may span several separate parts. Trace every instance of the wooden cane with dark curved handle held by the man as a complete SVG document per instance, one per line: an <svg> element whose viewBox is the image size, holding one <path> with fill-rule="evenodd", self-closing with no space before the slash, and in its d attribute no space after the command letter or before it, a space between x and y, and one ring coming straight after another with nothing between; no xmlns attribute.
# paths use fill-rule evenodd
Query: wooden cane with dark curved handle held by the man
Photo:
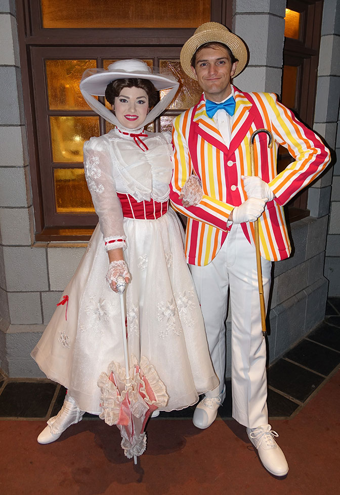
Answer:
<svg viewBox="0 0 340 495"><path fill-rule="evenodd" d="M254 160L254 139L260 132L265 132L269 136L268 147L271 148L273 146L273 135L267 129L258 129L253 132L250 137L250 173L252 176L255 175L255 160ZM256 265L258 269L258 283L259 283L259 296L260 296L260 309L261 309L261 326L262 326L262 334L264 336L267 335L266 329L266 305L265 305L265 296L263 293L263 280L262 280L262 266L261 266L261 252L260 252L260 235L259 235L259 219L254 221L254 240L255 240L255 249L256 249Z"/></svg>

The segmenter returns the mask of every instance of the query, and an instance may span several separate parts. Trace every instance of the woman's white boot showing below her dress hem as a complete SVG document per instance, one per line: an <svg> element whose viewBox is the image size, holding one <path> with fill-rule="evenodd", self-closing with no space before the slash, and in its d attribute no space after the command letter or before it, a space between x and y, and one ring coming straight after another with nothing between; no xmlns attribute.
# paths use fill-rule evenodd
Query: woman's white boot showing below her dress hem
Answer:
<svg viewBox="0 0 340 495"><path fill-rule="evenodd" d="M50 417L47 427L37 438L38 443L52 443L71 425L82 420L85 411L81 411L73 397L66 394L64 403L56 416Z"/></svg>

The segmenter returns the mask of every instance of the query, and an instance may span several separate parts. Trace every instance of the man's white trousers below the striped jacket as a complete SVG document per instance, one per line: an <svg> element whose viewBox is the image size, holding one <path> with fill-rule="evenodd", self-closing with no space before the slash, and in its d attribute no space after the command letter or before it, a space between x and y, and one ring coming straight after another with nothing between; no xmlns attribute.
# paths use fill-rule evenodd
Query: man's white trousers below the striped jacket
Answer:
<svg viewBox="0 0 340 495"><path fill-rule="evenodd" d="M205 266L189 265L204 318L210 356L224 388L228 288L231 305L231 382L233 417L248 428L268 423L266 340L262 335L255 249L242 227L233 224L217 256ZM268 304L271 261L262 258L263 287Z"/></svg>

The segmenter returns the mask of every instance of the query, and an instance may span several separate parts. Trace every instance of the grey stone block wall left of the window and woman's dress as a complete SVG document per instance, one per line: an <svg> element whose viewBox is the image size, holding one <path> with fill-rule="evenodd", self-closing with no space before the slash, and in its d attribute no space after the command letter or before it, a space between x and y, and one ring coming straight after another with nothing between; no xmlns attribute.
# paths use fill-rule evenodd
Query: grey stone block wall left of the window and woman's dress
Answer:
<svg viewBox="0 0 340 495"><path fill-rule="evenodd" d="M30 357L86 243L34 243L16 5L0 0L0 367L42 376Z"/></svg>

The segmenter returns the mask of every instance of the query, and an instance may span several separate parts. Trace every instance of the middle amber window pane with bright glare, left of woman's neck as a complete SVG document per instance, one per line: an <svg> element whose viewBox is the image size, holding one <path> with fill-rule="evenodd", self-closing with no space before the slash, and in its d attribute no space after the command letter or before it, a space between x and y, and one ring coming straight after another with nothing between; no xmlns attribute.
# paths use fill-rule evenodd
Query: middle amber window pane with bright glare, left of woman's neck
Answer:
<svg viewBox="0 0 340 495"><path fill-rule="evenodd" d="M99 136L98 117L50 117L53 161L82 162L82 146Z"/></svg>

